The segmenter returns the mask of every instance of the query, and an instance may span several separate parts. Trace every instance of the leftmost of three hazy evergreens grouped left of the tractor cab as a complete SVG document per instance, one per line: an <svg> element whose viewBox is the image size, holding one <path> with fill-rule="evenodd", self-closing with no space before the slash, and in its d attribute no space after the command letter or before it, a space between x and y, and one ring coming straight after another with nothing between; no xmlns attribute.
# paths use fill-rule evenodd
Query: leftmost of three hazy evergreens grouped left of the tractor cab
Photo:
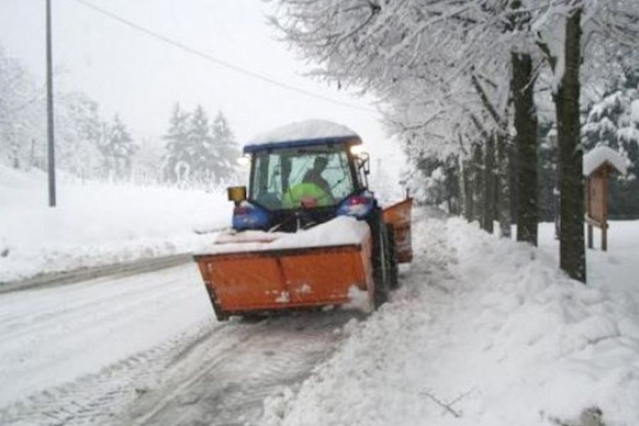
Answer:
<svg viewBox="0 0 639 426"><path fill-rule="evenodd" d="M163 174L164 179L178 182L190 170L190 154L188 149L189 114L180 109L176 103L170 118L170 127L163 136L166 141Z"/></svg>

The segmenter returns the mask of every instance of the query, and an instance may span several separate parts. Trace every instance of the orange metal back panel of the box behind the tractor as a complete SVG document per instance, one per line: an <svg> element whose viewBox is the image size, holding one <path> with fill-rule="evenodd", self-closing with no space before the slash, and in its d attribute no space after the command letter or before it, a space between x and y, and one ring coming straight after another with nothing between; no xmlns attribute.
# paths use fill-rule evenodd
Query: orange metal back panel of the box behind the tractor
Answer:
<svg viewBox="0 0 639 426"><path fill-rule="evenodd" d="M196 255L219 320L247 312L342 305L369 291L371 241L305 249ZM370 291L369 291L370 293Z"/></svg>

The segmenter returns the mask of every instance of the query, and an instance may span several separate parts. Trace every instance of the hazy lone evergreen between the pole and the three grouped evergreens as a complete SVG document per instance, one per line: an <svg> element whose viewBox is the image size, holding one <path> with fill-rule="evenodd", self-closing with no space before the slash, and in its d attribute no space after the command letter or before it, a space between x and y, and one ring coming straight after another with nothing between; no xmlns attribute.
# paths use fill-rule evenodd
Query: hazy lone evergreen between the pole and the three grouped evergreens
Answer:
<svg viewBox="0 0 639 426"><path fill-rule="evenodd" d="M107 136L99 145L104 157L104 170L109 179L124 179L131 176L132 157L138 146L126 130L126 126L115 116L107 130Z"/></svg>

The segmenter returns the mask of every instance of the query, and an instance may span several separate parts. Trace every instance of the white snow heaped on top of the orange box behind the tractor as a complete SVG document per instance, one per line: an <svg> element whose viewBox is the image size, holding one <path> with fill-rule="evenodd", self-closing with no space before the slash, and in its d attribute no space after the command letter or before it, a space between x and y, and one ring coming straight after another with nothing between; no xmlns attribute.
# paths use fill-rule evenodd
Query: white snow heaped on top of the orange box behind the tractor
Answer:
<svg viewBox="0 0 639 426"><path fill-rule="evenodd" d="M353 217L340 216L310 229L300 229L293 234L264 231L220 233L217 234L214 244L207 244L198 253L241 253L244 251L346 246L364 243L370 233L366 222Z"/></svg>

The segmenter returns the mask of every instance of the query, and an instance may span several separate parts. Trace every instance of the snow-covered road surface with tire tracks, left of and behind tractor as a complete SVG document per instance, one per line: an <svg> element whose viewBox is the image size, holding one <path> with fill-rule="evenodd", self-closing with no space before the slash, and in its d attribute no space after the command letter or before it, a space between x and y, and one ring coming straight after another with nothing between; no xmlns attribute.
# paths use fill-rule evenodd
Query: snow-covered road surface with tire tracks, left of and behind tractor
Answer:
<svg viewBox="0 0 639 426"><path fill-rule="evenodd" d="M251 424L353 312L214 320L195 264L0 295L0 424Z"/></svg>

